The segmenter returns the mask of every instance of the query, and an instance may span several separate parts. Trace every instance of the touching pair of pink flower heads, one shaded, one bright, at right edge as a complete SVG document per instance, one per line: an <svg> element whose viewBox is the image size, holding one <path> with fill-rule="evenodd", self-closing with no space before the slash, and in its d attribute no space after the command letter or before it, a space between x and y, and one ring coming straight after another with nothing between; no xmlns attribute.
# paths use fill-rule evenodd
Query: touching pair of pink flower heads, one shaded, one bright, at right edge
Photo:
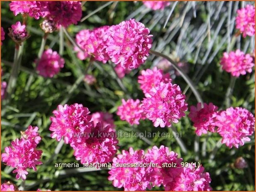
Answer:
<svg viewBox="0 0 256 192"><path fill-rule="evenodd" d="M212 103L197 104L190 107L188 115L193 121L197 135L206 134L207 131L217 132L222 136L222 143L227 147L238 148L244 142L250 141L248 136L254 133L255 118L247 109L241 107L230 107L223 111L217 111Z"/></svg>

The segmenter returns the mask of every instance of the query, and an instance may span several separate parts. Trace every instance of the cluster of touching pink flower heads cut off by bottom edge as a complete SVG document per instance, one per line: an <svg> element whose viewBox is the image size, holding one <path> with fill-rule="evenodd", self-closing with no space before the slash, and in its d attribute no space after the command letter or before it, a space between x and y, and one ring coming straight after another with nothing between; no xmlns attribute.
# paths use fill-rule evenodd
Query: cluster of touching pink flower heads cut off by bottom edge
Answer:
<svg viewBox="0 0 256 192"><path fill-rule="evenodd" d="M129 152L123 150L113 159L108 179L115 187L124 187L124 191L144 191L161 185L168 191L210 191L209 173L204 173L202 166L195 168L192 164L181 168L181 161L178 154L170 152L168 147L158 149L154 146L146 154L143 150L134 151L130 147ZM125 164L130 166L122 166ZM176 168L164 167L163 164L176 164Z"/></svg>

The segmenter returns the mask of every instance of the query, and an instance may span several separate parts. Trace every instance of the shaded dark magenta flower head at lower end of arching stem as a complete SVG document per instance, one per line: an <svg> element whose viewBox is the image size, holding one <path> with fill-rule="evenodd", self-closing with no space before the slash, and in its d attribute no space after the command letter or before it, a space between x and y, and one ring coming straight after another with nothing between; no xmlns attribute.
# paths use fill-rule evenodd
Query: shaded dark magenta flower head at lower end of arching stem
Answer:
<svg viewBox="0 0 256 192"><path fill-rule="evenodd" d="M193 121L196 128L195 133L199 136L206 134L207 131L215 132L215 119L217 116L218 107L212 103L204 104L197 103L197 107L190 107L188 117Z"/></svg>

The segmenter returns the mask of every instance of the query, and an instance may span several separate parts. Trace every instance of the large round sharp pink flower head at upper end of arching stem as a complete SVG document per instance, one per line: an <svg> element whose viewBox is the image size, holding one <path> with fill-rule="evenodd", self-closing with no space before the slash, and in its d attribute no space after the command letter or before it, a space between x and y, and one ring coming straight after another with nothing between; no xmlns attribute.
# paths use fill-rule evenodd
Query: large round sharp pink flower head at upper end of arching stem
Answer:
<svg viewBox="0 0 256 192"><path fill-rule="evenodd" d="M111 61L124 69L136 69L149 56L152 35L144 24L130 19L109 29L107 54Z"/></svg>

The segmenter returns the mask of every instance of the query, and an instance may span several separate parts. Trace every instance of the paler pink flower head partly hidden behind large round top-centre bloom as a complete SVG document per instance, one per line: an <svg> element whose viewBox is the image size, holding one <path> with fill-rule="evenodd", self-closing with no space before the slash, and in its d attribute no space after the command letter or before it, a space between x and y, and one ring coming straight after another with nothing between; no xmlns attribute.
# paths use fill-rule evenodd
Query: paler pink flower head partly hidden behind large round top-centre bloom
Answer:
<svg viewBox="0 0 256 192"><path fill-rule="evenodd" d="M106 63L109 60L107 55L107 31L109 26L102 26L93 30L81 30L76 34L76 43L79 45L82 52L78 47L75 47L75 51L78 51L77 57L81 60L88 57Z"/></svg>

